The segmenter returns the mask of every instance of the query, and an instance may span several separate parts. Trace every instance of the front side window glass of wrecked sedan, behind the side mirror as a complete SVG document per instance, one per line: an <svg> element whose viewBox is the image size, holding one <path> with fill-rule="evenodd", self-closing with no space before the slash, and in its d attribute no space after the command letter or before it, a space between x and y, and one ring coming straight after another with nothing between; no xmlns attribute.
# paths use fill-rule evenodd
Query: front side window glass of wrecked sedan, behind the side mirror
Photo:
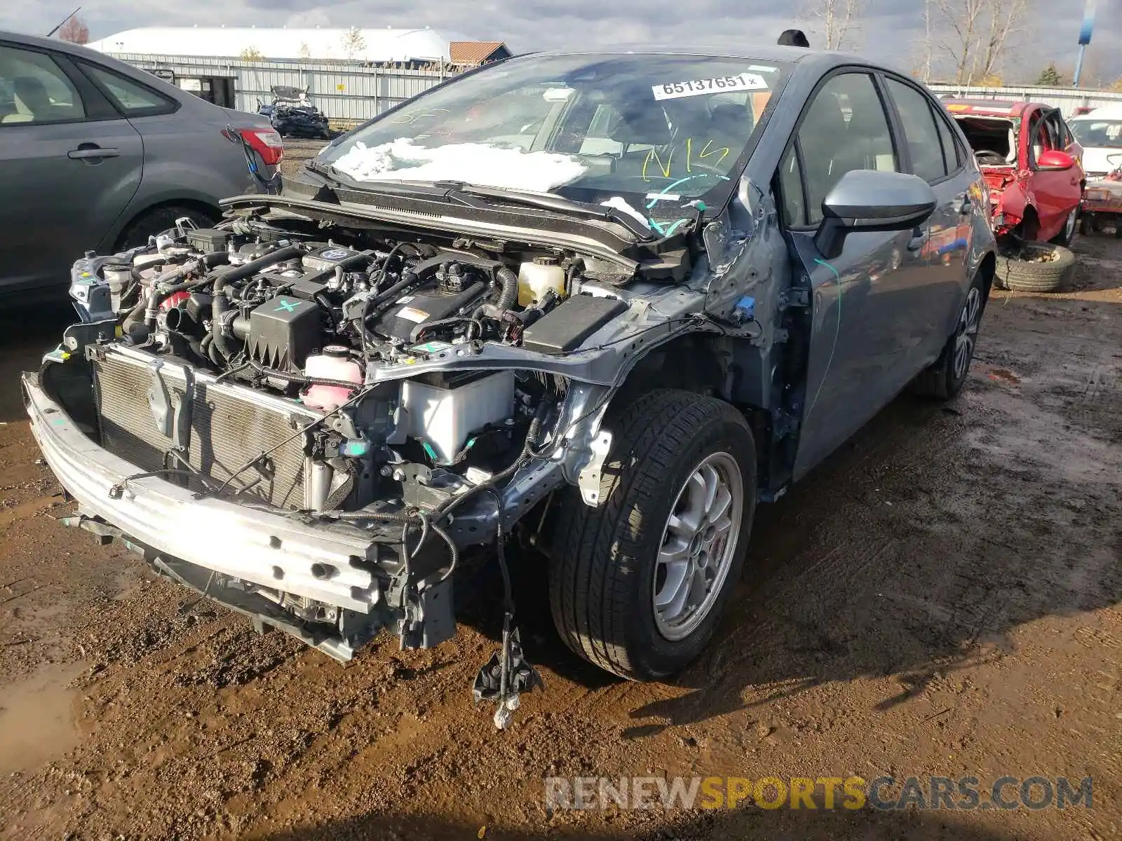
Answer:
<svg viewBox="0 0 1122 841"><path fill-rule="evenodd" d="M853 169L899 172L892 132L873 77L833 76L815 94L798 131L807 186L807 222L822 219L822 201Z"/></svg>

